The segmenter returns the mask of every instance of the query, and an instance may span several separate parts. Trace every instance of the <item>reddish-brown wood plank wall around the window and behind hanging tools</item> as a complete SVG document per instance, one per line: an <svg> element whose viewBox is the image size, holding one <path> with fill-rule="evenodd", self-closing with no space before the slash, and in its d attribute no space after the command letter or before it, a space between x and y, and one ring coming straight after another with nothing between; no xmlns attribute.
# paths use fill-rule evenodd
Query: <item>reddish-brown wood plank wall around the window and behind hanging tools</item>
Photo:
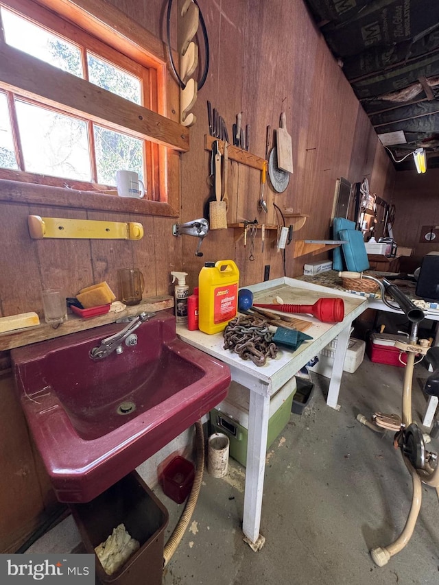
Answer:
<svg viewBox="0 0 439 585"><path fill-rule="evenodd" d="M165 3L163 0L110 0L112 4L143 25L155 36L165 39ZM394 179L394 170L370 123L348 85L340 66L313 25L302 0L200 0L200 7L209 33L211 65L206 84L198 94L193 108L197 123L190 131L190 151L180 155L180 177L173 180L181 185L180 221L202 217L204 200L209 195L209 153L204 151L204 134L208 129L206 100L226 119L229 133L237 112L243 123L250 124L250 150L265 156L266 127L278 127L281 112L287 115L287 130L292 135L294 174L285 193L274 194L266 185L268 214L257 209L260 174L229 163L228 194L230 219L255 219L267 224L281 224L274 203L280 208L292 208L295 213L308 214L305 227L295 239L326 239L330 237L330 217L336 179L340 176L351 182L368 176L370 187L378 195ZM174 3L176 10L176 2ZM175 13L174 13L175 14ZM175 16L174 16L175 18ZM172 27L175 31L175 23ZM198 33L200 47L202 35ZM174 43L176 35L173 34ZM170 106L172 109L172 106ZM170 112L171 114L172 112ZM174 110L175 115L175 110ZM177 156L171 154L171 156ZM141 241L69 241L30 239L27 215L52 217L88 217L113 221L141 222L145 237ZM242 239L235 242L233 229L212 231L202 243L204 256L194 255L197 239L171 235L176 219L145 217L130 214L93 212L28 204L0 204L0 315L39 311L40 290L63 287L68 296L83 286L107 280L117 288L117 268L137 266L145 274L148 296L169 294L172 291L169 272L189 273L189 285L195 286L204 261L233 259L241 272L240 285L263 280L264 266L270 266L270 278L283 276L282 254L276 251L275 238L268 238L261 252L258 233L254 246L254 261L249 258L249 246ZM410 245L410 243L407 243ZM302 274L305 261L322 259L326 254L293 259L293 246L285 252L287 276ZM5 386L4 394L12 392ZM5 398L4 398L5 399ZM17 430L12 441L14 455L29 459L29 443L23 433L23 421L12 411L3 410L0 426ZM7 419L7 420L6 420ZM18 434L20 433L20 435ZM23 453L20 453L22 447ZM5 469L3 469L5 470ZM3 494L2 505L21 497L15 491L14 470L5 479L10 486ZM40 493L34 473L21 486L32 505L26 516L29 525L46 505L47 498L40 480ZM24 493L23 492L23 493ZM3 527L7 536L21 534L23 518L8 518ZM0 528L1 529L1 528ZM5 546L5 542L0 545ZM10 544L10 542L8 543Z"/></svg>

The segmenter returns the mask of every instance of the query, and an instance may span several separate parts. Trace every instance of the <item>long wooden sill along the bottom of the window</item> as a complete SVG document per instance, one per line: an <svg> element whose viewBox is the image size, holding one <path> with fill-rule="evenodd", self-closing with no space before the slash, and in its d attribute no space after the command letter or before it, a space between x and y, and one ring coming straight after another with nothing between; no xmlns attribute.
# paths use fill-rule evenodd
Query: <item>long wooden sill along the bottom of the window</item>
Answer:
<svg viewBox="0 0 439 585"><path fill-rule="evenodd" d="M178 217L178 208L172 204L173 202L121 198L93 191L78 191L4 179L0 179L0 202Z"/></svg>

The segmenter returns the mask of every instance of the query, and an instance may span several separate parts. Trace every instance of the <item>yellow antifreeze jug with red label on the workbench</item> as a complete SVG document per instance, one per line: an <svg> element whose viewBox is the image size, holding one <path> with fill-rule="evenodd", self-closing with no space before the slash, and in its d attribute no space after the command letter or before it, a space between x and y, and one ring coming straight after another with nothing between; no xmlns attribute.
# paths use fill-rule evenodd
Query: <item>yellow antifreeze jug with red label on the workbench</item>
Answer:
<svg viewBox="0 0 439 585"><path fill-rule="evenodd" d="M238 310L239 269L233 260L206 262L198 276L198 329L224 331Z"/></svg>

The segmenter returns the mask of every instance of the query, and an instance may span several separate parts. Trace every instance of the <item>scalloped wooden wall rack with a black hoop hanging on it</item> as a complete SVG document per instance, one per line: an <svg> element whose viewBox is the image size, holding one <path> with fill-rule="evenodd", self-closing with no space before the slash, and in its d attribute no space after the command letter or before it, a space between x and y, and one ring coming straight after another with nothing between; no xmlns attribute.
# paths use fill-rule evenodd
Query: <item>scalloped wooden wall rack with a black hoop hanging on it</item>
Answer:
<svg viewBox="0 0 439 585"><path fill-rule="evenodd" d="M209 71L209 38L202 12L196 0L178 0L177 5L177 47L180 61L180 73L177 72L171 49L171 8L173 0L167 4L167 53L174 77L180 86L180 123L183 126L193 126L196 121L191 108L197 100L198 90L202 88ZM205 62L204 71L200 81L193 79L192 75L198 68L198 45L192 40L198 25L201 25L204 38Z"/></svg>

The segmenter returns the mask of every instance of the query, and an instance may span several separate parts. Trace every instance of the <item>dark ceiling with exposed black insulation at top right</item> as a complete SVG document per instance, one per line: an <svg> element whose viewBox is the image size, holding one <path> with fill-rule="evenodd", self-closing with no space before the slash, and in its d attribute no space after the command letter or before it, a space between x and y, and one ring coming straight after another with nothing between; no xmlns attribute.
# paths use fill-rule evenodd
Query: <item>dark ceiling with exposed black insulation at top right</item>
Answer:
<svg viewBox="0 0 439 585"><path fill-rule="evenodd" d="M439 167L439 1L305 3L392 160L423 147L427 169Z"/></svg>

